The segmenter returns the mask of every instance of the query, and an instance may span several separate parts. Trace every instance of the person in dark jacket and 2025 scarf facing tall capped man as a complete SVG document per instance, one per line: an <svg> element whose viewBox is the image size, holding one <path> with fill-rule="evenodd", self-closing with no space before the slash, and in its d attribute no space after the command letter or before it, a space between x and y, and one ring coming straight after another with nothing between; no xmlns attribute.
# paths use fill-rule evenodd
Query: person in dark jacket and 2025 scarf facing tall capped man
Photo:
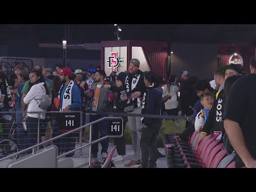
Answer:
<svg viewBox="0 0 256 192"><path fill-rule="evenodd" d="M153 71L145 73L144 82L147 91L143 94L142 98L142 111L141 114L147 115L161 115L162 108L162 94L163 89L159 87L156 74ZM142 134L140 140L141 147L141 166L156 167L157 160L157 137L162 125L160 118L142 117ZM148 164L150 151L150 162Z"/></svg>

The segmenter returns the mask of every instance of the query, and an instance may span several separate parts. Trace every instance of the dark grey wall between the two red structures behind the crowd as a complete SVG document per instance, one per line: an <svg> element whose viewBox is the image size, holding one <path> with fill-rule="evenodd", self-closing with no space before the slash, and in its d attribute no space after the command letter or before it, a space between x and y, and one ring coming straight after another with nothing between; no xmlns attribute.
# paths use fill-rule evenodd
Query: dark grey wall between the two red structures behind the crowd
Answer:
<svg viewBox="0 0 256 192"><path fill-rule="evenodd" d="M171 43L171 75L181 77L181 71L198 78L213 79L217 69L218 45Z"/></svg>

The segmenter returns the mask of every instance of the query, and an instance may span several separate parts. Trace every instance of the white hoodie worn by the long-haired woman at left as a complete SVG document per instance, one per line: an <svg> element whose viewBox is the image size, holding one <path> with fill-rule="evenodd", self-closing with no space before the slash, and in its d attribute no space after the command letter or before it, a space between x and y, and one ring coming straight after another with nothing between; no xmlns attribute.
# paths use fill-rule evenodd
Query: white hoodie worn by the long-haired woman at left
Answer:
<svg viewBox="0 0 256 192"><path fill-rule="evenodd" d="M46 90L44 87L44 83L38 83L36 85L31 86L31 89L27 93L26 97L23 99L24 103L28 105L27 111L31 111L31 112L44 111L39 107L38 103L40 103L41 101L40 99L42 99L43 95L45 94L46 94ZM37 101L35 99L37 99ZM35 113L34 114L27 113L27 116L38 118L38 114L35 114ZM45 119L45 113L41 113L40 118Z"/></svg>

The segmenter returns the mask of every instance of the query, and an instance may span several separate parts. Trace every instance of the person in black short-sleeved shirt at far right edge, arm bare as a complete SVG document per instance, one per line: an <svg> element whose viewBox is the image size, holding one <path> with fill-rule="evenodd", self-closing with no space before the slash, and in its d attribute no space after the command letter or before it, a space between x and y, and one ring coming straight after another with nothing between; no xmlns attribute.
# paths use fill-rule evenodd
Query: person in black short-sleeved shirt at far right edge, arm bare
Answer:
<svg viewBox="0 0 256 192"><path fill-rule="evenodd" d="M236 167L256 168L254 57L250 59L250 69L251 75L237 79L230 87L223 119L228 138L236 151Z"/></svg>

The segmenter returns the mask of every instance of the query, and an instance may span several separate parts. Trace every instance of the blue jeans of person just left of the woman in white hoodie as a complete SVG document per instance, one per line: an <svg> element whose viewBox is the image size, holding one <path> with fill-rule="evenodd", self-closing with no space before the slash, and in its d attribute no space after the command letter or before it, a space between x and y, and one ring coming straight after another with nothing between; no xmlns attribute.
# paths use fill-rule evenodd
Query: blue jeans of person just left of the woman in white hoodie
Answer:
<svg viewBox="0 0 256 192"><path fill-rule="evenodd" d="M17 112L21 111L21 108L17 108L16 111ZM19 151L27 148L27 133L23 129L22 120L23 120L22 113L16 113L17 144L18 144Z"/></svg>

